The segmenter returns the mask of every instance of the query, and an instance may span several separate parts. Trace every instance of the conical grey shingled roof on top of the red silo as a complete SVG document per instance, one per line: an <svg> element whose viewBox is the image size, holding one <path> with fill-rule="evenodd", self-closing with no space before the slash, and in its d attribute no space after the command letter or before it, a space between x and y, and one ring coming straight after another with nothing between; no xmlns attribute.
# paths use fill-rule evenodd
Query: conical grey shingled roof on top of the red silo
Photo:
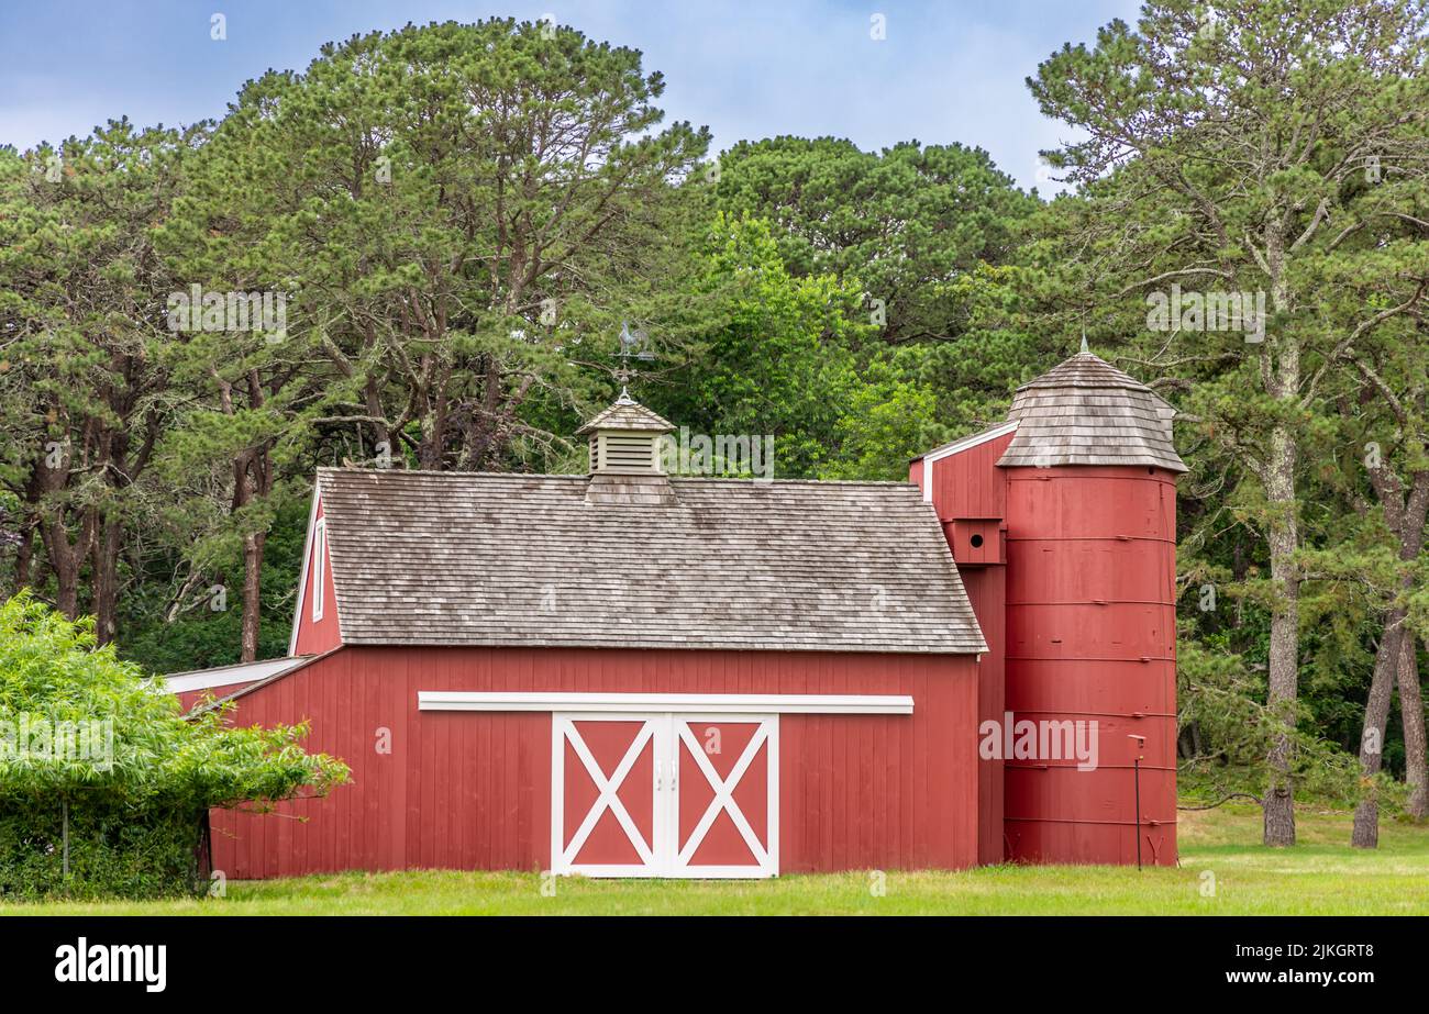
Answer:
<svg viewBox="0 0 1429 1014"><path fill-rule="evenodd" d="M1003 467L1149 466L1187 471L1172 443L1175 410L1106 360L1079 353L1017 388Z"/></svg>

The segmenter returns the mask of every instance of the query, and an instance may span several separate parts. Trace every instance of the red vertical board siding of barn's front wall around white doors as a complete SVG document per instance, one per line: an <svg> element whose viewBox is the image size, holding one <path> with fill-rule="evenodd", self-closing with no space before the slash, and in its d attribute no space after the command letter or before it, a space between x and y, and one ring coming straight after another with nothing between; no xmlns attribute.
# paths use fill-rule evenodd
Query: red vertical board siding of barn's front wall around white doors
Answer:
<svg viewBox="0 0 1429 1014"><path fill-rule="evenodd" d="M352 784L282 815L216 813L216 868L547 868L550 716L417 711L419 690L910 694L912 716L780 717L780 870L977 861L970 656L349 646L240 697L236 721L310 720L307 747Z"/></svg>

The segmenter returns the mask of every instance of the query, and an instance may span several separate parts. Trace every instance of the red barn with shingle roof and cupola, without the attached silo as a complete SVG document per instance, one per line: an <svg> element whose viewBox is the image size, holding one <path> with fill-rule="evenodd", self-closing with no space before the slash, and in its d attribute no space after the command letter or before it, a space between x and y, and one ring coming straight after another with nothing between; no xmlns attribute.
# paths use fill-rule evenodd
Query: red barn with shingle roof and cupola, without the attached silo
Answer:
<svg viewBox="0 0 1429 1014"><path fill-rule="evenodd" d="M979 860L979 656L903 483L667 477L622 397L589 476L320 470L293 654L240 723L350 785L214 814L230 877L767 877Z"/></svg>

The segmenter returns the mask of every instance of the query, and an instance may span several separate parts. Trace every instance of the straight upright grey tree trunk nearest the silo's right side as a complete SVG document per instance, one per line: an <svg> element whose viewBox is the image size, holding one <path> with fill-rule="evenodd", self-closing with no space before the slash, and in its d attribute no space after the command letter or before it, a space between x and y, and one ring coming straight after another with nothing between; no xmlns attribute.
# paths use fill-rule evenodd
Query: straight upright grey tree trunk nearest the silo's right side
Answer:
<svg viewBox="0 0 1429 1014"><path fill-rule="evenodd" d="M1280 726L1270 744L1269 787L1265 794L1265 844L1295 844L1295 787L1290 780L1295 750L1295 701L1299 694L1300 577L1295 561L1299 523L1295 503L1295 438L1283 426L1270 436L1266 498L1270 503L1270 578L1276 606L1270 616L1268 704Z"/></svg>

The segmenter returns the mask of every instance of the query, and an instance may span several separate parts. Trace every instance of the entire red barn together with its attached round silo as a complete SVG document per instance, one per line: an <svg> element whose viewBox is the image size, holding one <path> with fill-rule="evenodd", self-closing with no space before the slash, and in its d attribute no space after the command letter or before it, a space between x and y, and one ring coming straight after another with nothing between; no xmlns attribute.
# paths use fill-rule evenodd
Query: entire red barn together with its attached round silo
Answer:
<svg viewBox="0 0 1429 1014"><path fill-rule="evenodd" d="M582 428L587 476L320 470L292 657L171 688L310 721L353 781L216 813L214 867L1129 861L1133 740L1105 770L1025 765L989 756L1007 710L1145 733L1143 808L1173 831L1185 467L1147 388L1075 357L910 484L670 477L672 428L623 396Z"/></svg>

